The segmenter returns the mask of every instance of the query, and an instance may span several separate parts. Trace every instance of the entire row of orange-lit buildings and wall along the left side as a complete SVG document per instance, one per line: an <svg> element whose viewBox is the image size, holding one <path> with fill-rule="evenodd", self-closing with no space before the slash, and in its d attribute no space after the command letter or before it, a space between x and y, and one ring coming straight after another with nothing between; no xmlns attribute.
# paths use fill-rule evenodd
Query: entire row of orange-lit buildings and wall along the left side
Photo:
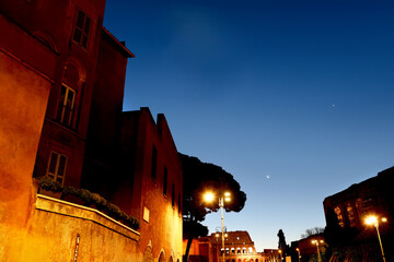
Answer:
<svg viewBox="0 0 394 262"><path fill-rule="evenodd" d="M104 8L0 2L2 261L182 260L175 143L164 115L123 111L134 55L103 27ZM43 177L99 193L139 228L70 196L37 194Z"/></svg>

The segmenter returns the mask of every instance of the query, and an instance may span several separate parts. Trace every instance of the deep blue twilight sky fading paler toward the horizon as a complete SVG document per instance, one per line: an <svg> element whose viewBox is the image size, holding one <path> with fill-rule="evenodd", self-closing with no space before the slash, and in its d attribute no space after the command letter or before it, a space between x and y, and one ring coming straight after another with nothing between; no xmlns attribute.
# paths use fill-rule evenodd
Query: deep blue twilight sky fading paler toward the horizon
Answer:
<svg viewBox="0 0 394 262"><path fill-rule="evenodd" d="M394 165L393 1L107 0L104 26L136 55L124 109L163 112L179 152L234 176L247 202L224 223L258 251Z"/></svg>

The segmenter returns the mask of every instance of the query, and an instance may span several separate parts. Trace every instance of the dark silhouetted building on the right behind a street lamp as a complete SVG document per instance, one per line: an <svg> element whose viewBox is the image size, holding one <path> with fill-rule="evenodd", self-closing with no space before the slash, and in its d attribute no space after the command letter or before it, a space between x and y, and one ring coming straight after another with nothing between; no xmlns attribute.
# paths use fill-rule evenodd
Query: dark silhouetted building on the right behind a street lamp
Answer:
<svg viewBox="0 0 394 262"><path fill-rule="evenodd" d="M387 223L380 223L379 229L386 261L394 260L394 252L390 249L394 245L393 184L394 167L391 167L324 200L325 235L337 253L346 253L347 259L381 261L376 229L364 223L367 216L375 215L387 218Z"/></svg>

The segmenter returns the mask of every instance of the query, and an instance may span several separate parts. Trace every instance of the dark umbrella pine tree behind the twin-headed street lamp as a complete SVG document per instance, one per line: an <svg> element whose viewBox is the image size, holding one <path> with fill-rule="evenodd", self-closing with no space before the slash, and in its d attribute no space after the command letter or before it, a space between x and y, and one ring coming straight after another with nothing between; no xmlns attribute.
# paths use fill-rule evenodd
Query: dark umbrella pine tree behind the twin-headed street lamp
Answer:
<svg viewBox="0 0 394 262"><path fill-rule="evenodd" d="M217 195L231 193L231 202L224 204L227 212L240 212L246 202L246 194L241 191L240 183L233 176L213 164L202 163L197 157L178 153L183 167L183 223L184 239L187 239L185 261L188 260L190 245L194 238L208 235L208 228L202 226L206 215L219 210L219 201L205 203L202 195L212 191Z"/></svg>

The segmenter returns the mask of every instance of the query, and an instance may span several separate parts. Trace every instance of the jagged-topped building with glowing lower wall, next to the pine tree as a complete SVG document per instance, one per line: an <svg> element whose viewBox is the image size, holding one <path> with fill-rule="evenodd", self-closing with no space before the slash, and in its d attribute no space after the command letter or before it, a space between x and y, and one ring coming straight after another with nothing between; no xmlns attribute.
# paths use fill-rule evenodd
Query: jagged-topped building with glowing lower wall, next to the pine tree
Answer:
<svg viewBox="0 0 394 262"><path fill-rule="evenodd" d="M124 170L134 176L130 213L141 222L140 252L152 252L157 261L182 261L182 181L177 151L164 115L157 122L148 108L124 114L123 152L128 152ZM153 146L157 151L152 175ZM166 183L164 174L166 169ZM125 182L124 182L125 184ZM164 187L166 190L164 192ZM173 188L174 187L174 191ZM123 209L127 209L127 190L119 191ZM119 202L120 203L120 202Z"/></svg>

